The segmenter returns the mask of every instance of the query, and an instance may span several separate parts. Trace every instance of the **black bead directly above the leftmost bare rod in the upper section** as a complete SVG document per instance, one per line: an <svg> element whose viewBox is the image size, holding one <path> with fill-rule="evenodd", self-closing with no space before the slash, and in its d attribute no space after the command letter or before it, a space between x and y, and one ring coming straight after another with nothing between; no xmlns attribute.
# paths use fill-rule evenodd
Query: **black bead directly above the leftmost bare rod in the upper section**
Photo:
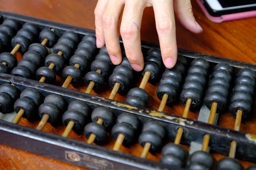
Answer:
<svg viewBox="0 0 256 170"><path fill-rule="evenodd" d="M17 44L20 45L20 52L25 53L31 44L31 41L23 35L15 35L11 39L11 46L14 48Z"/></svg>

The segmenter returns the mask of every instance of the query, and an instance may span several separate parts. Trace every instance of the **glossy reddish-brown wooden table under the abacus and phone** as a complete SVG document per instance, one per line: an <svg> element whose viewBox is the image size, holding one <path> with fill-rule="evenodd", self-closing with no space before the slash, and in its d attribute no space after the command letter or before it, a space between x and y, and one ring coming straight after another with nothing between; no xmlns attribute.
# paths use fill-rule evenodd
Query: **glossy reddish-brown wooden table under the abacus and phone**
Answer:
<svg viewBox="0 0 256 170"><path fill-rule="evenodd" d="M96 0L0 0L0 10L95 29L94 8L96 3ZM205 17L195 0L192 0L192 5L195 18L204 31L202 34L196 35L177 22L178 48L252 64L256 63L256 18L217 24ZM152 8L146 8L144 11L141 39L148 42L158 42ZM254 116L251 119L255 121ZM221 120L220 123L232 128L233 123L229 122L227 119ZM255 132L253 128L253 126L245 123L241 130L248 130L253 133ZM218 159L220 157L216 156L216 160ZM251 164L243 162L244 168ZM0 146L0 169L82 170L83 168L7 146Z"/></svg>

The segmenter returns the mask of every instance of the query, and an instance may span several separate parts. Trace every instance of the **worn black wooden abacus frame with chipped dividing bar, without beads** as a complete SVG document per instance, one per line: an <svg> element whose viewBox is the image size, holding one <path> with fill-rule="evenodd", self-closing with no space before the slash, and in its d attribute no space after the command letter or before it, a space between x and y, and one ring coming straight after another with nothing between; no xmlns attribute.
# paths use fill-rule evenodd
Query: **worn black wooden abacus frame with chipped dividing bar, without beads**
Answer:
<svg viewBox="0 0 256 170"><path fill-rule="evenodd" d="M21 22L31 22L38 25L40 28L54 28L57 35L61 35L67 30L72 30L81 35L94 34L94 31L92 30L66 24L41 20L15 13L3 12L2 14L4 18L14 18ZM120 43L122 44L121 40ZM147 51L151 48L159 48L158 44L148 42L142 42L141 47L143 51ZM225 58L196 53L193 51L186 51L183 49L178 49L178 54L183 55L188 60L203 57L212 65L226 63L232 66L235 71L241 68L250 68L253 71L256 71L255 65L238 62L235 60L228 60ZM186 145L189 145L191 141L201 142L204 135L209 134L211 136L209 144L211 151L220 153L222 155L228 155L230 142L235 140L238 144L236 158L256 163L255 135L158 112L148 108L133 107L116 100L0 73L0 84L4 83L13 83L20 91L28 87L35 88L44 96L55 93L61 95L68 103L75 99L83 100L87 102L92 109L98 106L105 106L108 107L115 115L119 115L124 112L132 113L137 115L142 123L152 120L158 121L165 126L168 134L167 139L170 141L174 141L177 128L182 127L184 128L185 135L182 136L181 143ZM101 168L108 170L124 170L132 168L136 170L182 170L181 168L170 168L155 161L112 151L100 146L86 144L81 141L53 135L48 132L35 130L17 124L12 124L3 120L0 120L0 134L0 144L89 169ZM219 141L222 141L221 144Z"/></svg>

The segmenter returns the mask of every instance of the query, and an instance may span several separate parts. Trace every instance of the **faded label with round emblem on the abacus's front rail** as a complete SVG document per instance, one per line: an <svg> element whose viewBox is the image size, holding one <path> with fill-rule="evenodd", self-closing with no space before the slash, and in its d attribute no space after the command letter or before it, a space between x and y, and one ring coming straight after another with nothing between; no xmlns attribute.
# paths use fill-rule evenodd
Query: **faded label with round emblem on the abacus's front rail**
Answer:
<svg viewBox="0 0 256 170"><path fill-rule="evenodd" d="M77 162L80 166L93 168L96 170L113 170L114 164L106 161L105 159L100 159L99 157L92 157L90 155L74 152L65 151L65 159L71 162Z"/></svg>

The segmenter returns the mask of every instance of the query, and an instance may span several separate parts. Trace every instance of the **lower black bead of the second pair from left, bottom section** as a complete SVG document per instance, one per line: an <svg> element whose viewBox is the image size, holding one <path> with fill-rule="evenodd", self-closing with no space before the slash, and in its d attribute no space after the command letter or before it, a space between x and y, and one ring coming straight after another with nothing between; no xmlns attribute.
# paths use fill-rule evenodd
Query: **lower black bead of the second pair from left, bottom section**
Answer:
<svg viewBox="0 0 256 170"><path fill-rule="evenodd" d="M22 117L25 118L33 117L37 109L36 104L32 102L31 99L25 97L17 99L14 102L13 107L16 113L18 113L20 109L24 110L25 113L22 115Z"/></svg>

